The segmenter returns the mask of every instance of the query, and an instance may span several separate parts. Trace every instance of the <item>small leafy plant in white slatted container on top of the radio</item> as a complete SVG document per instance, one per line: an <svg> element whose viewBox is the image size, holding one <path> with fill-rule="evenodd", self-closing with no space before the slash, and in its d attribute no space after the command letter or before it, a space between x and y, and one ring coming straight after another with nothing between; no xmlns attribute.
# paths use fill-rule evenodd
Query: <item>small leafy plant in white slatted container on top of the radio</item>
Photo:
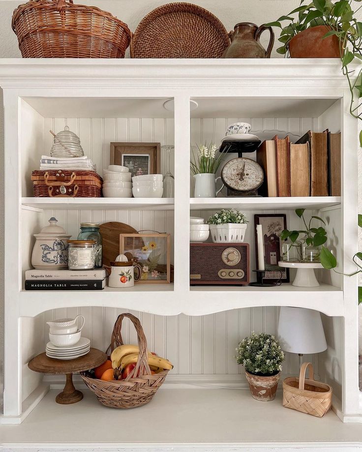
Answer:
<svg viewBox="0 0 362 452"><path fill-rule="evenodd" d="M207 221L214 243L242 243L247 227L246 215L235 209L214 213Z"/></svg>

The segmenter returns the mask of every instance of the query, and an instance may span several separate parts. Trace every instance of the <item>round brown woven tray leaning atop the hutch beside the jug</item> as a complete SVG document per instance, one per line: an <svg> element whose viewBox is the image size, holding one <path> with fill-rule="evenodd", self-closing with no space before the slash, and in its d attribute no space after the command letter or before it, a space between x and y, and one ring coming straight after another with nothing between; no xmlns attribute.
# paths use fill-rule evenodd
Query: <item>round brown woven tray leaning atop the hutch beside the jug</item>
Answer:
<svg viewBox="0 0 362 452"><path fill-rule="evenodd" d="M228 32L207 9L168 3L145 16L131 40L131 58L221 58Z"/></svg>

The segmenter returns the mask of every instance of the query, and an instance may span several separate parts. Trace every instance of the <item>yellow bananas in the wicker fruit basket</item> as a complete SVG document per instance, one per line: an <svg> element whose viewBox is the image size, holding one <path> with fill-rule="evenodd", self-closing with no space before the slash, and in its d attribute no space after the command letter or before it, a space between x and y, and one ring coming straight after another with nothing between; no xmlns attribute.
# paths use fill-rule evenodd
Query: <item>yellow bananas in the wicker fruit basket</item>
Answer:
<svg viewBox="0 0 362 452"><path fill-rule="evenodd" d="M136 363L138 359L139 348L137 345L120 345L111 354L111 361L113 369L122 371L127 364ZM166 360L157 355L152 354L148 350L148 363L152 370L172 369L174 366Z"/></svg>

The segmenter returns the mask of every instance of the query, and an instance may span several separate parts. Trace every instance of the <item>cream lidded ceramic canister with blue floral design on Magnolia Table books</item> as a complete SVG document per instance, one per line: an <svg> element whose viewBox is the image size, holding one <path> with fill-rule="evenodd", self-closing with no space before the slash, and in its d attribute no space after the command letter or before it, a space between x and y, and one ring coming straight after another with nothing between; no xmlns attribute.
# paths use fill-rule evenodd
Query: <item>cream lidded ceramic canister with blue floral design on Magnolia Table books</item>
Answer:
<svg viewBox="0 0 362 452"><path fill-rule="evenodd" d="M31 265L34 269L67 269L68 243L70 239L58 220L50 218L49 226L45 226L39 234L34 234L35 244L31 254Z"/></svg>

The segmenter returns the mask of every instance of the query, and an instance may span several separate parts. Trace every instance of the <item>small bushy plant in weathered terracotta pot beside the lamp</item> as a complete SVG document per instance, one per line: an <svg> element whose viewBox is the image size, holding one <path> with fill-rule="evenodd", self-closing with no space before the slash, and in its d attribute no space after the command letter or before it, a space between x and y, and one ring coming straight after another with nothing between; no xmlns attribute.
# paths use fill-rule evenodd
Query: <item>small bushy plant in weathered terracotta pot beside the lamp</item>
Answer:
<svg viewBox="0 0 362 452"><path fill-rule="evenodd" d="M284 352L271 334L251 333L236 348L235 358L245 368L251 395L267 402L275 398Z"/></svg>

